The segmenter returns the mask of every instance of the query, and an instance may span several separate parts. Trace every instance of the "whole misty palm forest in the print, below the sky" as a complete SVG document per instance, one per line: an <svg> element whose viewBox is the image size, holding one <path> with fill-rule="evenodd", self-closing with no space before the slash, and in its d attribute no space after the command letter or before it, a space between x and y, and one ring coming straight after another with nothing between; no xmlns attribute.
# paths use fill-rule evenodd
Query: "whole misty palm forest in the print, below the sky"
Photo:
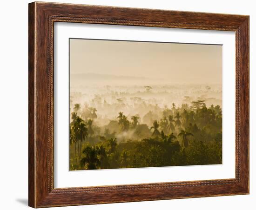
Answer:
<svg viewBox="0 0 256 210"><path fill-rule="evenodd" d="M70 89L69 170L222 164L221 85L98 84Z"/></svg>

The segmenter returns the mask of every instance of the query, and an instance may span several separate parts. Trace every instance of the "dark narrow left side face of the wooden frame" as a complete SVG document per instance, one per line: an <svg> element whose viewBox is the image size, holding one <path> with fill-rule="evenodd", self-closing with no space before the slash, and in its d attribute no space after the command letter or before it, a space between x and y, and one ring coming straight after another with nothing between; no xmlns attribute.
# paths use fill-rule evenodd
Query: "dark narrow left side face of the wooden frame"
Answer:
<svg viewBox="0 0 256 210"><path fill-rule="evenodd" d="M28 4L28 206L36 207L35 191L35 2Z"/></svg>

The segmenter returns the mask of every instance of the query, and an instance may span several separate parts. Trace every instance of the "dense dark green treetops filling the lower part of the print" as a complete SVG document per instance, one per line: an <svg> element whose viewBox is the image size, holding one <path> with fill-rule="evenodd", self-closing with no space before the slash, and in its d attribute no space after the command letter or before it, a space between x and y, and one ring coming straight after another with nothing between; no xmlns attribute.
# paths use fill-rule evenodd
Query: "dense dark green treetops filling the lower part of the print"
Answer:
<svg viewBox="0 0 256 210"><path fill-rule="evenodd" d="M74 105L70 123L70 170L137 168L222 163L222 110L203 100L165 108L160 120L140 124L119 112L98 126L97 110ZM80 113L80 114L79 114Z"/></svg>

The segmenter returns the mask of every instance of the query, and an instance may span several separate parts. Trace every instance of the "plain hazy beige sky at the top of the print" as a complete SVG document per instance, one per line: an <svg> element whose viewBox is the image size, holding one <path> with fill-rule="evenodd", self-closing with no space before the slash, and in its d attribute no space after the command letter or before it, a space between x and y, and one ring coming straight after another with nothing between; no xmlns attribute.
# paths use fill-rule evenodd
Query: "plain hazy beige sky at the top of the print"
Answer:
<svg viewBox="0 0 256 210"><path fill-rule="evenodd" d="M222 46L70 39L70 74L80 73L221 84Z"/></svg>

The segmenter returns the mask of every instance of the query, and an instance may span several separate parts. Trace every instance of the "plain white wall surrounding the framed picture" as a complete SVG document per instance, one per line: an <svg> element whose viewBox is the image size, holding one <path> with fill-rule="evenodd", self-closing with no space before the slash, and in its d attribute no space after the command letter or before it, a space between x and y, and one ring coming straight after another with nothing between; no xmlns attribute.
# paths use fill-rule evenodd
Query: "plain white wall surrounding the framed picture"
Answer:
<svg viewBox="0 0 256 210"><path fill-rule="evenodd" d="M104 205L61 207L61 209L84 210L119 210L119 209L255 209L256 182L254 163L256 100L256 14L252 0L55 0L55 2L97 4L121 7L144 7L155 9L171 9L183 11L234 13L250 15L250 195L189 198L166 201L150 201L136 203L114 203ZM28 209L27 207L27 0L1 2L0 13L0 62L1 62L1 173L0 173L0 208L4 210ZM60 208L54 208L60 209Z"/></svg>

